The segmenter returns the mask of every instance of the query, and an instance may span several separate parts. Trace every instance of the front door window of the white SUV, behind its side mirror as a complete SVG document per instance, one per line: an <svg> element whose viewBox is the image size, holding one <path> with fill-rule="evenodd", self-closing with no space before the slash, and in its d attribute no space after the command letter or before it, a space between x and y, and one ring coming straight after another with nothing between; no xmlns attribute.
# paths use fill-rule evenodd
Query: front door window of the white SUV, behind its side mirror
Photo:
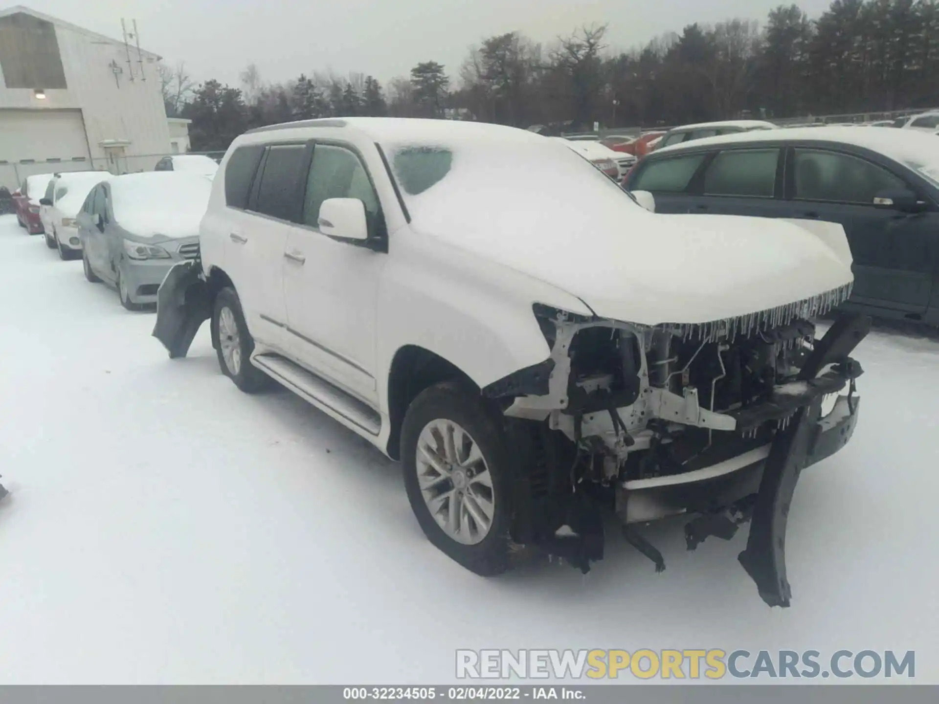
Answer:
<svg viewBox="0 0 939 704"><path fill-rule="evenodd" d="M362 161L351 150L337 145L316 145L303 198L303 221L319 228L319 207L330 198L357 198L365 206L369 234L381 221L378 196Z"/></svg>

